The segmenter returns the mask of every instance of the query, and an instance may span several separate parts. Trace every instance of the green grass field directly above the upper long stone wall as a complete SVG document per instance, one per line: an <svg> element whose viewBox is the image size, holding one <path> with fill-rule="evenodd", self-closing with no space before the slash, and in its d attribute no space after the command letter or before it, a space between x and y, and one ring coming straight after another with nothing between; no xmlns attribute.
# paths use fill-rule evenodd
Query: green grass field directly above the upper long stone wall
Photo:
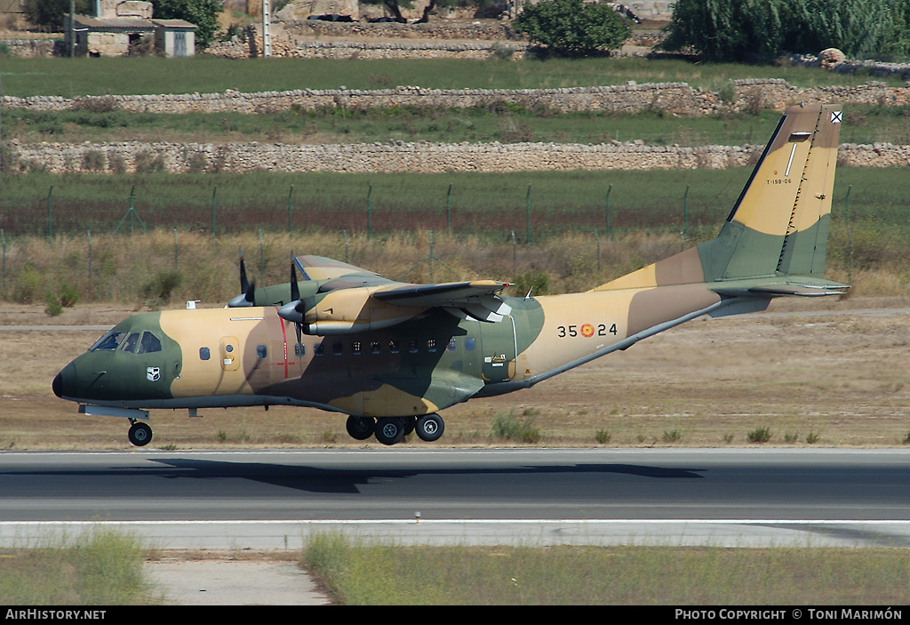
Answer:
<svg viewBox="0 0 910 625"><path fill-rule="evenodd" d="M862 85L870 76L817 68L693 64L683 60L588 58L509 61L460 59L224 59L5 58L5 96L103 96L105 94L218 93L290 89L376 89L389 86L461 88L561 88L685 82L719 90L731 78L784 78L794 86ZM899 78L875 78L904 86Z"/></svg>

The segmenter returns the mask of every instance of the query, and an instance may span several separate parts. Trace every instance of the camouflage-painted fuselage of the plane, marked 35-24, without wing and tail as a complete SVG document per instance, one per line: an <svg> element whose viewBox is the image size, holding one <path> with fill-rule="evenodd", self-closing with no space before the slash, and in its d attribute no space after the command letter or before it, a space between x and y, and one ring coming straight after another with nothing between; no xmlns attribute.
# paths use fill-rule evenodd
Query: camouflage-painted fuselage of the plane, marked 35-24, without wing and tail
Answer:
<svg viewBox="0 0 910 625"><path fill-rule="evenodd" d="M703 303L719 297L701 289ZM713 297L712 297L713 296ZM687 297L683 297L682 300ZM315 406L368 417L422 415L475 395L530 386L622 346L646 329L630 321L655 301L608 291L506 298L502 321L460 319L430 309L387 330L303 335L275 307L145 313L114 328L116 348L94 348L66 366L60 397L122 408ZM681 303L682 303L681 300ZM661 306L660 322L680 317ZM647 324L657 320L648 315ZM157 351L127 350L151 333Z"/></svg>

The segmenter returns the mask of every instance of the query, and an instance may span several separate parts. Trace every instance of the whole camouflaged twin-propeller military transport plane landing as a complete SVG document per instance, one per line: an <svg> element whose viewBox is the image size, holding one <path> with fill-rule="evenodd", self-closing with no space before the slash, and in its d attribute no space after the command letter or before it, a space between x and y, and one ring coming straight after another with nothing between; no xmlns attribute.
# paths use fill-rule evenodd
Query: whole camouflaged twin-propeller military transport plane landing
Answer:
<svg viewBox="0 0 910 625"><path fill-rule="evenodd" d="M824 253L838 106L788 108L718 237L585 293L504 297L493 280L416 285L297 257L286 285L248 284L225 308L127 318L56 376L86 415L151 408L308 406L354 439L436 440L441 409L529 388L689 319L828 296ZM301 277L298 279L297 272Z"/></svg>

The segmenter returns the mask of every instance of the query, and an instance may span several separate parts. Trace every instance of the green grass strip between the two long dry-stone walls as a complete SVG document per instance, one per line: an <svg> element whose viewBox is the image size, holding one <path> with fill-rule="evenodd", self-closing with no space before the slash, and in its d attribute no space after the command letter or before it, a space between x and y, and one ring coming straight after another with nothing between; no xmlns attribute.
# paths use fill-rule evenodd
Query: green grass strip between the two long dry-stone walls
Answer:
<svg viewBox="0 0 910 625"><path fill-rule="evenodd" d="M281 113L129 114L120 110L4 114L4 136L25 143L173 141L197 143L373 143L375 141L545 142L651 146L763 144L780 114L675 117L660 111L562 114L550 109L490 106L434 109L394 106ZM849 106L842 143L910 144L910 107Z"/></svg>

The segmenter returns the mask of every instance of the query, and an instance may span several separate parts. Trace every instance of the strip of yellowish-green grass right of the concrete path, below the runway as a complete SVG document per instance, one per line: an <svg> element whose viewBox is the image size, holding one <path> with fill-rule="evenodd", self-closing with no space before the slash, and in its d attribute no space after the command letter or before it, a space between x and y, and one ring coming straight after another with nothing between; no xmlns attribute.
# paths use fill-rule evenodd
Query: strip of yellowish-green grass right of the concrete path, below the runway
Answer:
<svg viewBox="0 0 910 625"><path fill-rule="evenodd" d="M664 606L902 605L907 559L905 549L430 549L331 535L301 558L345 605Z"/></svg>

